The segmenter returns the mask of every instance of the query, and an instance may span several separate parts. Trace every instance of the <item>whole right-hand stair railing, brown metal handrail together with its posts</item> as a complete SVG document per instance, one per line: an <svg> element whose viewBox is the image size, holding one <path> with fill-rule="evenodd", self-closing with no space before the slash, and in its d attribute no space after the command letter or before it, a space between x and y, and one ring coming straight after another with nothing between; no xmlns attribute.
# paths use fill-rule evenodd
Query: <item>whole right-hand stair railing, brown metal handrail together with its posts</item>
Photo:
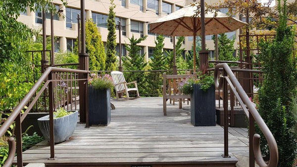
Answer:
<svg viewBox="0 0 297 167"><path fill-rule="evenodd" d="M219 82L219 70L222 68L223 76L220 77ZM235 75L231 71L230 67L226 63L221 63L215 66L214 70L215 87L221 89L223 87L223 106L224 106L224 157L228 155L228 98L227 98L227 86L230 85L230 90L237 97L241 104L247 118L249 120L249 167L254 167L254 160L256 160L260 167L276 167L278 163L278 149L277 143L272 135L271 131L261 118L260 114L256 110L254 104L250 101L247 93L244 91L241 84L236 79ZM247 110L248 109L248 110ZM270 161L268 165L265 164L260 151L260 135L255 134L254 125L255 122L263 132L270 150Z"/></svg>

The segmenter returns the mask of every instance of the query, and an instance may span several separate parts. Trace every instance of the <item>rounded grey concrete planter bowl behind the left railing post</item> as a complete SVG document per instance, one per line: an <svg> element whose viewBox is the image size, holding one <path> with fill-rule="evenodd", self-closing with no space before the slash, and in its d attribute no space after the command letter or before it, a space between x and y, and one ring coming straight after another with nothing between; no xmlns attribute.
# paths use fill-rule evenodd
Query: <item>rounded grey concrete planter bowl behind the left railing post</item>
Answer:
<svg viewBox="0 0 297 167"><path fill-rule="evenodd" d="M68 140L75 130L78 111L67 112L73 113L61 118L53 119L54 143L61 143ZM49 115L39 118L38 125L45 139L49 141Z"/></svg>

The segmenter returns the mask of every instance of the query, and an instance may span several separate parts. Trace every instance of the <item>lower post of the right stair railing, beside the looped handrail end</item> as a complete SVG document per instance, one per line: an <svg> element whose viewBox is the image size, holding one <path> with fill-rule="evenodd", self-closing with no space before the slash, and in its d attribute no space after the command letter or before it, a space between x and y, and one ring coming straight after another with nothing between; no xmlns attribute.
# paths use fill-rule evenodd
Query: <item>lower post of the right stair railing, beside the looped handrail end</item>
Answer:
<svg viewBox="0 0 297 167"><path fill-rule="evenodd" d="M253 151L253 135L255 134L255 119L252 114L248 112L248 152L249 152L249 167L255 167L255 155Z"/></svg>

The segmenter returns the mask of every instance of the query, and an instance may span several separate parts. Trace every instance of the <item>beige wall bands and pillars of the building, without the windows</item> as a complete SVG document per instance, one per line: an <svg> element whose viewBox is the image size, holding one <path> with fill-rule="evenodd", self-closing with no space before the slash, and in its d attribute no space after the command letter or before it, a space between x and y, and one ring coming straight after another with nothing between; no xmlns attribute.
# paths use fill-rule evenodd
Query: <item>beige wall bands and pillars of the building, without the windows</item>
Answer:
<svg viewBox="0 0 297 167"><path fill-rule="evenodd" d="M122 1L126 2L126 6L122 6ZM206 3L211 4L215 3L219 0L205 0ZM54 20L54 36L59 37L58 45L60 47L60 50L66 51L67 50L67 39L76 39L78 35L78 28L76 23L72 23L72 28L66 27L66 8L61 4L59 0L53 0L53 2L57 5L59 5L59 8L63 10L61 16L59 17L59 20ZM162 12L162 2L170 3L172 12L175 11L175 7L183 7L191 2L193 0L158 0L158 14L156 14L155 10L148 8L147 2L148 0L142 0L143 2L143 10L140 11L140 6L130 3L130 0L114 0L114 3L116 5L114 11L116 13L116 17L120 17L122 19L125 19L126 21L126 36L122 36L121 43L129 43L128 38L131 38L132 35L134 35L135 38L140 38L139 33L131 32L131 21L138 21L143 23L143 35L148 35L148 23L151 21L154 21L162 16L167 15L167 13ZM85 0L85 9L86 9L86 17L92 18L92 12L100 13L108 15L110 6L110 0ZM68 0L68 6L70 8L74 9L80 9L80 0ZM161 11L161 12L160 12ZM72 20L76 19L77 16L74 16ZM25 23L28 25L28 27L40 30L40 34L42 34L42 25L35 23L36 20L36 14L34 12L29 11L27 15L20 15L18 18L19 21ZM47 36L50 36L50 20L46 20L47 24ZM107 41L107 28L98 27L98 30L102 36L102 41ZM206 30L207 31L207 30ZM236 32L236 40L238 41L238 34L239 31ZM119 34L118 31L116 31L117 36L117 43L119 43ZM190 38L191 39L191 38ZM193 38L192 38L193 39ZM148 38L141 42L140 45L143 46L144 52L146 52L146 60L148 61L148 51L149 48L155 47L154 41L156 40L156 36L148 35ZM176 40L177 41L177 40ZM189 40L188 37L185 37L185 44L182 45L185 50L191 50L193 40ZM237 43L237 42L235 42ZM173 43L171 42L170 38L165 38L164 40L164 49L173 49ZM206 48L209 50L214 50L214 43L212 40L206 40ZM237 45L235 45L235 48L237 48ZM128 53L127 53L128 54Z"/></svg>

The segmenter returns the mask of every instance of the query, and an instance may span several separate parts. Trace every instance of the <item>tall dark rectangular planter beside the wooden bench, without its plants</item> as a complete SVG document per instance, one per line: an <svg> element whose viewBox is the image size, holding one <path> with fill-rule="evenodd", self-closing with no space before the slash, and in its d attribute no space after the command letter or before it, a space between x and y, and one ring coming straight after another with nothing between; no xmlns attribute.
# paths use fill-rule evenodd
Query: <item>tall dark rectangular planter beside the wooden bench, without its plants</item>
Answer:
<svg viewBox="0 0 297 167"><path fill-rule="evenodd" d="M215 87L206 91L200 89L201 84L194 84L191 94L191 124L194 126L215 126Z"/></svg>

